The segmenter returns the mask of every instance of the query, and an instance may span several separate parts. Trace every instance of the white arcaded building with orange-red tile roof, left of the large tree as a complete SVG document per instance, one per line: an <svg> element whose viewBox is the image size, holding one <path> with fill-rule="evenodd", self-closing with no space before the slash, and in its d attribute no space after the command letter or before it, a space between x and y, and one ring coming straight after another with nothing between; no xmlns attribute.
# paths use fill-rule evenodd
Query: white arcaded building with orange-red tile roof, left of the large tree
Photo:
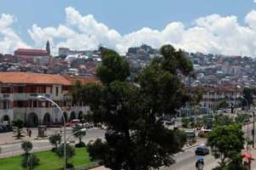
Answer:
<svg viewBox="0 0 256 170"><path fill-rule="evenodd" d="M62 122L81 118L89 113L83 102L73 103L68 96L76 77L30 72L0 72L0 122L21 119L27 126ZM79 77L82 83L95 82L96 78ZM78 79L78 80L79 80ZM61 113L49 101L39 100L43 95L61 106Z"/></svg>

